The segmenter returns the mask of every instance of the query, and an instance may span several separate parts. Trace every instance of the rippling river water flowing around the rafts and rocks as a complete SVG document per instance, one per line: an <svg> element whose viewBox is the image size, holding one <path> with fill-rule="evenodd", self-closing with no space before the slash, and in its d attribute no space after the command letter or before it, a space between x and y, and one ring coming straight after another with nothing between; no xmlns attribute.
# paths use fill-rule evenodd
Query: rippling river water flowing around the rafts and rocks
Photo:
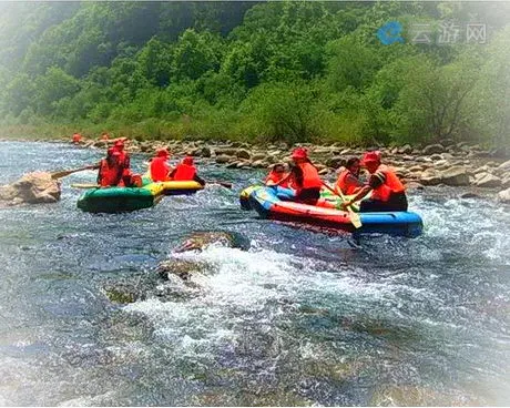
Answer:
<svg viewBox="0 0 510 408"><path fill-rule="evenodd" d="M0 165L11 182L101 153L1 142ZM58 204L0 210L0 405L510 404L508 211L429 188L410 194L422 236L356 246L239 210L261 172L200 167L233 191L91 215L70 187L94 181L84 172ZM206 269L160 282L154 267L196 231L251 246L182 254ZM132 304L104 292L151 279Z"/></svg>

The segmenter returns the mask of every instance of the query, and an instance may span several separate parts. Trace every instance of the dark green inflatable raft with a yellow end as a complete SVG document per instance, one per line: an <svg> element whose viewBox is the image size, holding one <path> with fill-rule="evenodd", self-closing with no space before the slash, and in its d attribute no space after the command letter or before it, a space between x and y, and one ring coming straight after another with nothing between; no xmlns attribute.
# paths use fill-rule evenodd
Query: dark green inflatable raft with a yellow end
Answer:
<svg viewBox="0 0 510 408"><path fill-rule="evenodd" d="M78 207L89 213L123 213L149 208L162 197L162 185L151 183L143 187L93 188L78 198Z"/></svg>

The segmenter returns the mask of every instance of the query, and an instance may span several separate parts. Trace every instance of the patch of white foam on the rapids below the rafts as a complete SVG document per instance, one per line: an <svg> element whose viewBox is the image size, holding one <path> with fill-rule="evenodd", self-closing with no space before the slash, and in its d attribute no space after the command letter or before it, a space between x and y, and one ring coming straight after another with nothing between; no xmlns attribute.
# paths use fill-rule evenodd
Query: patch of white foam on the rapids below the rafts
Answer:
<svg viewBox="0 0 510 408"><path fill-rule="evenodd" d="M214 353L212 347L227 347L239 340L251 325L258 333L264 333L265 327L269 330L275 319L294 313L302 303L343 299L364 308L384 303L394 316L400 316L401 296L430 296L425 289L391 280L369 282L359 269L332 269L328 264L267 249L244 252L210 246L201 253L174 256L211 265L205 274L191 277L202 287L200 295L184 302L150 298L125 310L145 314L156 336L187 356L204 357Z"/></svg>

